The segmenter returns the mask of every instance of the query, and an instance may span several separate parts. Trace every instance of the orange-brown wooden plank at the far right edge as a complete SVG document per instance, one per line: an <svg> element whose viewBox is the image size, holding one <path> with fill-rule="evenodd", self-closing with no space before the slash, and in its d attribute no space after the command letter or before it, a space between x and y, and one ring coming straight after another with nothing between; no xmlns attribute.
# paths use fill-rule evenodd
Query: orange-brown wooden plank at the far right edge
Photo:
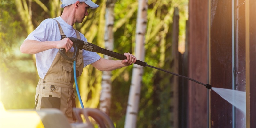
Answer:
<svg viewBox="0 0 256 128"><path fill-rule="evenodd" d="M256 1L246 0L246 127L256 127Z"/></svg>

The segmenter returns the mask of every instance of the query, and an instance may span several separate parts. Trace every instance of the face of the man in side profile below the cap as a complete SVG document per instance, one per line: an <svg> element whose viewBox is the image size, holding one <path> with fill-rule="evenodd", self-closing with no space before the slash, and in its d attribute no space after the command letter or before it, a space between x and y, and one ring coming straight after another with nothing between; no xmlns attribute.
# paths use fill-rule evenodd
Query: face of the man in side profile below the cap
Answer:
<svg viewBox="0 0 256 128"><path fill-rule="evenodd" d="M84 2L81 2L81 4L79 4L76 22L78 23L83 22L85 16L88 16L88 9L89 9L89 6Z"/></svg>

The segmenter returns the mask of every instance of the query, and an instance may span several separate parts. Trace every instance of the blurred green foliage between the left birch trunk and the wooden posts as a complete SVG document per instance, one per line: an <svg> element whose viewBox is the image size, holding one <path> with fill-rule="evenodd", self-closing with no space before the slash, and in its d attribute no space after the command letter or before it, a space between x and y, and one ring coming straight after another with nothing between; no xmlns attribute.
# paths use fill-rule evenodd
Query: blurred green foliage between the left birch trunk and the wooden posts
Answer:
<svg viewBox="0 0 256 128"><path fill-rule="evenodd" d="M187 0L182 1L174 1L174 0L165 0L165 1L148 1L148 27L145 41L145 62L149 65L156 66L162 68L164 64L165 57L161 56L171 56L165 54L165 52L161 52L165 50L167 47L170 47L170 43L166 45L165 42L168 38L171 40L171 36L167 35L170 25L172 25L172 16L174 7L178 6L180 10L180 37L183 37L185 34L185 20L187 17ZM136 0L132 1L122 1L119 0L115 4L115 24L116 27L115 32L115 52L124 53L124 52L134 52L135 45L135 29L136 29L136 18L137 18L137 10L133 10L134 6L138 6L136 4ZM125 9L124 9L125 8ZM127 11L127 10L128 11ZM136 8L137 9L137 8ZM132 12L132 15L129 13ZM128 18L127 18L128 17ZM126 22L122 22L123 19L126 19ZM122 24L121 24L122 23ZM121 25L120 25L121 24ZM183 38L184 40L184 38ZM181 40L180 42L182 42ZM167 42L166 42L167 43ZM161 62L163 61L163 62ZM130 71L130 67L126 68L126 71ZM131 68L132 69L132 68ZM169 70L169 69L167 69ZM113 71L113 74L116 74L119 70ZM169 108L166 108L170 104L170 102L166 101L165 103L160 102L160 99L164 101L164 99L168 99L168 93L159 92L164 90L160 88L162 84L153 83L154 79L156 79L158 75L164 76L166 74L156 74L156 70L152 68L144 68L144 74L142 78L142 88L140 95L140 107L139 113L137 116L137 127L154 127L154 126L166 126L169 120L168 118L159 118L160 113L167 113ZM110 116L114 121L118 121L117 126L124 126L124 114L126 111L127 99L128 99L128 90L130 88L130 80L131 73L129 73L129 81L128 83L124 78L127 77L127 73L123 72L113 81L112 87L112 102L118 102L118 104L112 103ZM118 80L120 79L120 80ZM165 80L166 82L166 80ZM168 81L167 81L168 82ZM164 83L164 82L162 82ZM170 91L168 88L168 83L166 83L166 91ZM169 85L170 87L170 85ZM167 96L167 97L166 97ZM120 98L121 97L121 98ZM159 102L158 102L159 101ZM121 104L120 104L121 103ZM164 105L165 104L165 105ZM122 107L120 107L120 105ZM123 108L123 109L118 109ZM168 114L167 114L168 115ZM165 124L163 123L165 121ZM161 124L162 123L162 124ZM170 122L169 122L170 123Z"/></svg>

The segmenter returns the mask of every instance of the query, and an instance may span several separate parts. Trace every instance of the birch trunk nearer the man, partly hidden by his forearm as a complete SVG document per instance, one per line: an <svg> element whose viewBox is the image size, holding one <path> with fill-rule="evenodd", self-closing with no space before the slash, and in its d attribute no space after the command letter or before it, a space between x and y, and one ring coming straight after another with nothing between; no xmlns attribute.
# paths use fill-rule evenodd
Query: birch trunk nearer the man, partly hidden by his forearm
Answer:
<svg viewBox="0 0 256 128"><path fill-rule="evenodd" d="M114 5L115 0L107 0L106 2L106 14L105 14L105 48L113 51L114 36L113 36L113 25L114 25ZM112 57L104 55L105 59L112 59ZM100 110L109 115L111 106L111 71L103 71L101 81L101 94L100 94Z"/></svg>

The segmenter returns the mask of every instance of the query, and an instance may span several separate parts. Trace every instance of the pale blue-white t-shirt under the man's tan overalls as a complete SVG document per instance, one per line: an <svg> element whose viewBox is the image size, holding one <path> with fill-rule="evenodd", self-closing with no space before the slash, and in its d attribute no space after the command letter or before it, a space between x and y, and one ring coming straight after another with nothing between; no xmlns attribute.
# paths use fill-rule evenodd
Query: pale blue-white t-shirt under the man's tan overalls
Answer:
<svg viewBox="0 0 256 128"><path fill-rule="evenodd" d="M56 19L63 29L64 34L67 37L75 37L76 32L73 29L73 26L67 24L61 17L54 18ZM82 33L80 33L81 40L87 41ZM32 33L28 35L26 40L36 40L36 41L59 41L61 39L60 30L58 24L53 19L44 20ZM73 52L73 47L69 50ZM40 78L44 79L45 74L50 68L55 56L58 53L58 49L49 49L43 52L36 54L36 68ZM83 59L84 67L96 62L100 59L100 56L95 52L86 51L83 49Z"/></svg>

